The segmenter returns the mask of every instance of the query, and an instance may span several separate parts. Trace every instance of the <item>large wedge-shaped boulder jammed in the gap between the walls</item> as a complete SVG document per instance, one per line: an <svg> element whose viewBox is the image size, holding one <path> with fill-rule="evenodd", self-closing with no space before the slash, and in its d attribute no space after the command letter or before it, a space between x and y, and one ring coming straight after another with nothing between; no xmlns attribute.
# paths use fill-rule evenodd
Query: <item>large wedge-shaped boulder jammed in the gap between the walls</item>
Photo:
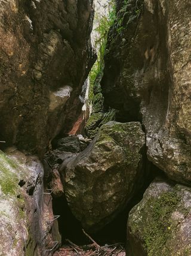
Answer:
<svg viewBox="0 0 191 256"><path fill-rule="evenodd" d="M63 162L66 199L84 228L106 225L140 188L144 143L140 123L108 122L87 149Z"/></svg>

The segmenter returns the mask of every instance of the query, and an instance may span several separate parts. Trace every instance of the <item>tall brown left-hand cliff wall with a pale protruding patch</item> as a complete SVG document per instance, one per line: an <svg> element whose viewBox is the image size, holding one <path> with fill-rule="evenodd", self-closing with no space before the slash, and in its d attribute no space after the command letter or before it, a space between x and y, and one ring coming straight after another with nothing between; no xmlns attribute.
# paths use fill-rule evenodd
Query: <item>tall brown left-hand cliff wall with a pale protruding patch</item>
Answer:
<svg viewBox="0 0 191 256"><path fill-rule="evenodd" d="M0 136L42 156L81 111L93 1L2 0Z"/></svg>

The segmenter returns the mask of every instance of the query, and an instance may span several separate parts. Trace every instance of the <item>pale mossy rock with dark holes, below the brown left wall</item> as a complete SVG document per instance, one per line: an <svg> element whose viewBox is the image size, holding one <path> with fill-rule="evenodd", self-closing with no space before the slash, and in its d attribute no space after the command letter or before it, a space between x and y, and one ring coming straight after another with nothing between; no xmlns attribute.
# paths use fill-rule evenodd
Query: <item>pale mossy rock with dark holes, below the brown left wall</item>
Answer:
<svg viewBox="0 0 191 256"><path fill-rule="evenodd" d="M42 164L14 148L7 153L0 152L1 255L43 255L53 242L59 246L60 234L50 221L51 200L43 194Z"/></svg>

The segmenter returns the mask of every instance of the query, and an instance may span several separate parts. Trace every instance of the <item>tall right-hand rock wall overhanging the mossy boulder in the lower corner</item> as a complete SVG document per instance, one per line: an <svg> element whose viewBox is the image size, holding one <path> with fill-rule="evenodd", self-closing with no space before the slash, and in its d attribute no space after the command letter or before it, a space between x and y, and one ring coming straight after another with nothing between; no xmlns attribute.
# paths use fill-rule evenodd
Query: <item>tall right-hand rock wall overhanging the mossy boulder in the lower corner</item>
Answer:
<svg viewBox="0 0 191 256"><path fill-rule="evenodd" d="M105 103L124 121L142 121L149 160L190 184L190 1L117 2L101 82Z"/></svg>

